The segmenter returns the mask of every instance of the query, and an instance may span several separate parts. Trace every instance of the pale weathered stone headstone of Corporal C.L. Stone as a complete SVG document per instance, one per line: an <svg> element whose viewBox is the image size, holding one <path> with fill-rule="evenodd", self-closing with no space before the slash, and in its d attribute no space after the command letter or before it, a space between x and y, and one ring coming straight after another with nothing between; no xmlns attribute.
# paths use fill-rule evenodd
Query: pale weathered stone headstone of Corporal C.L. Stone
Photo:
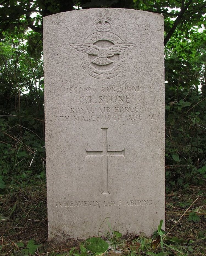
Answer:
<svg viewBox="0 0 206 256"><path fill-rule="evenodd" d="M163 42L163 16L149 12L44 18L49 241L108 223L149 236L164 220Z"/></svg>

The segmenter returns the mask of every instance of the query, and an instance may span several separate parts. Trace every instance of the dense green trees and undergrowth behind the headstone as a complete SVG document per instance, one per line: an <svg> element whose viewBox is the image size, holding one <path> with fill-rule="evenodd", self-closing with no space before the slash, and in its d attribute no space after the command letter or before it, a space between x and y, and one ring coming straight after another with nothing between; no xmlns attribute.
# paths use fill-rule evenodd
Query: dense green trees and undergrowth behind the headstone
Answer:
<svg viewBox="0 0 206 256"><path fill-rule="evenodd" d="M42 17L96 7L165 18L166 178L169 189L206 178L205 0L2 0L0 189L45 179Z"/></svg>

